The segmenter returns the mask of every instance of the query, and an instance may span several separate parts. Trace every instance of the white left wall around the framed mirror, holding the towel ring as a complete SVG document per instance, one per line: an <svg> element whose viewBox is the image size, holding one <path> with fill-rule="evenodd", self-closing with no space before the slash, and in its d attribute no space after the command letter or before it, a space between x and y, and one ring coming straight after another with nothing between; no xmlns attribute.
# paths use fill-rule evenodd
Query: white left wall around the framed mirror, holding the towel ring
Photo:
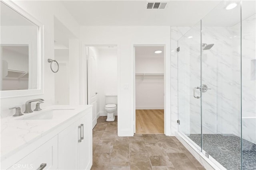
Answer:
<svg viewBox="0 0 256 170"><path fill-rule="evenodd" d="M44 106L54 104L54 73L50 70L48 58L54 59L54 16L77 37L79 36L79 25L68 13L66 8L58 1L14 1L20 8L34 16L44 25L44 94L33 96L20 96L1 99L1 117L14 114L8 108L18 106L25 109L25 102L35 98L43 98ZM46 10L47 9L47 10ZM78 42L79 48L79 42ZM78 50L79 53L79 50ZM79 57L78 57L79 58ZM79 63L79 61L78 61ZM75 72L79 75L79 72ZM77 96L76 96L77 97ZM32 104L32 107L35 104Z"/></svg>

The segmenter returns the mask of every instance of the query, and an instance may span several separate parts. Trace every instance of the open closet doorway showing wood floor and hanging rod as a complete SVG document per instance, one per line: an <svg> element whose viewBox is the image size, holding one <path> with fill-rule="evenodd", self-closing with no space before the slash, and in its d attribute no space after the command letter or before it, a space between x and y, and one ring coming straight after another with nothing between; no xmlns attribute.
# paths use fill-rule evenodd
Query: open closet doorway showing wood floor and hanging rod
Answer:
<svg viewBox="0 0 256 170"><path fill-rule="evenodd" d="M135 133L164 133L164 46L134 46Z"/></svg>

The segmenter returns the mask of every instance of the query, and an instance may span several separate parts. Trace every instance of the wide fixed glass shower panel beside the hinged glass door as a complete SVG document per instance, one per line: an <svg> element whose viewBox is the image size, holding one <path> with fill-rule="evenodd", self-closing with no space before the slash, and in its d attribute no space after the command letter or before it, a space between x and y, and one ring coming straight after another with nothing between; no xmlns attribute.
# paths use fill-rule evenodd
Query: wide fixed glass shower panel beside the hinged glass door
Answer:
<svg viewBox="0 0 256 170"><path fill-rule="evenodd" d="M202 19L202 152L229 170L241 169L240 21L240 1L222 1Z"/></svg>

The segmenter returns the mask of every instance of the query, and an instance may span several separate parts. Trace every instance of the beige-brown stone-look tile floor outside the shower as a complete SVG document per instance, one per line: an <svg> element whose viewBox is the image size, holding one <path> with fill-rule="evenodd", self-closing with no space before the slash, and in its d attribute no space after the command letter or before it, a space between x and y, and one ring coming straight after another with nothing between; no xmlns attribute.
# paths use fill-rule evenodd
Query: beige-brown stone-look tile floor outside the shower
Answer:
<svg viewBox="0 0 256 170"><path fill-rule="evenodd" d="M205 168L176 139L162 134L117 136L117 117L98 118L93 129L91 170L204 170Z"/></svg>

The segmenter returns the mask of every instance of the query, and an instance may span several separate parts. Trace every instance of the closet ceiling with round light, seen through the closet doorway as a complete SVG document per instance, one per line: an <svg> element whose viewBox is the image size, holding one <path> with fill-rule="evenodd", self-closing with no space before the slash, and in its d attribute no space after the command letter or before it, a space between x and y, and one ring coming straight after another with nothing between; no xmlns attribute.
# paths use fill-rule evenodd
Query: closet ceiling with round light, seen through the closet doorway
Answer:
<svg viewBox="0 0 256 170"><path fill-rule="evenodd" d="M161 50L162 53L154 53L157 50ZM164 46L136 46L135 47L136 58L164 58Z"/></svg>

